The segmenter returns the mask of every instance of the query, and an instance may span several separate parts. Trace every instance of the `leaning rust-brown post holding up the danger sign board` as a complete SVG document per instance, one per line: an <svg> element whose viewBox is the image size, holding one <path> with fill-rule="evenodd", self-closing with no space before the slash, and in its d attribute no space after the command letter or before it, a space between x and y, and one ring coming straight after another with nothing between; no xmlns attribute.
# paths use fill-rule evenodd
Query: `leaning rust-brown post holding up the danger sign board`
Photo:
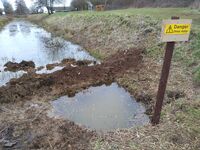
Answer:
<svg viewBox="0 0 200 150"><path fill-rule="evenodd" d="M172 19L179 19L179 17L172 17ZM156 105L155 105L154 115L152 118L153 125L159 124L160 122L160 115L161 115L163 100L164 100L165 91L167 87L167 81L168 81L174 46L175 46L175 42L167 42L165 57L164 57L164 62L163 62L163 67L162 67L162 73L161 73L158 93L156 97Z"/></svg>

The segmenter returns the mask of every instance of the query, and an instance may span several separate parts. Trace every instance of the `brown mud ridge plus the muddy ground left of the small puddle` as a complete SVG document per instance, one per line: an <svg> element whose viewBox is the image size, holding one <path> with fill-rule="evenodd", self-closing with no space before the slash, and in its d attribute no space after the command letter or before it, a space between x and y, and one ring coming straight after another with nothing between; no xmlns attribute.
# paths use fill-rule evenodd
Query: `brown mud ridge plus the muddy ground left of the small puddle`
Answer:
<svg viewBox="0 0 200 150"><path fill-rule="evenodd" d="M74 96L90 86L110 84L143 66L142 50L129 49L94 66L67 65L52 74L28 73L0 88L1 149L91 149L98 134L70 121L51 118L48 101Z"/></svg>

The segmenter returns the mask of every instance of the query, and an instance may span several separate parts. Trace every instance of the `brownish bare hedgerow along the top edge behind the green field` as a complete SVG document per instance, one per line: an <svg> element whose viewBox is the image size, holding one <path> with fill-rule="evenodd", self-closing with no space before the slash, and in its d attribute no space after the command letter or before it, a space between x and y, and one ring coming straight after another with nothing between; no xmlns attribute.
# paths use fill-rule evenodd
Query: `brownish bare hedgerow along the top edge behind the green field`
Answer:
<svg viewBox="0 0 200 150"><path fill-rule="evenodd" d="M143 8L143 7L195 7L199 8L198 0L90 0L91 4L105 5L106 9ZM194 6L195 5L195 6ZM78 10L87 10L87 0L72 0L71 6Z"/></svg>

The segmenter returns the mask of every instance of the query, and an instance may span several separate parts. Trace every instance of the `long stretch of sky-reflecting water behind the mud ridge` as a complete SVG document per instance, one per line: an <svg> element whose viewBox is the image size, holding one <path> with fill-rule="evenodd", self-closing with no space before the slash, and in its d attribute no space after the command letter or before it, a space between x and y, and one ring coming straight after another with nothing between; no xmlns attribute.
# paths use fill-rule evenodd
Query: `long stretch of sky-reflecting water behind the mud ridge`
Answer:
<svg viewBox="0 0 200 150"><path fill-rule="evenodd" d="M0 86L22 72L2 75L3 65L8 62L33 61L36 67L60 62L64 58L95 60L80 46L53 37L51 33L30 22L16 20L0 31Z"/></svg>

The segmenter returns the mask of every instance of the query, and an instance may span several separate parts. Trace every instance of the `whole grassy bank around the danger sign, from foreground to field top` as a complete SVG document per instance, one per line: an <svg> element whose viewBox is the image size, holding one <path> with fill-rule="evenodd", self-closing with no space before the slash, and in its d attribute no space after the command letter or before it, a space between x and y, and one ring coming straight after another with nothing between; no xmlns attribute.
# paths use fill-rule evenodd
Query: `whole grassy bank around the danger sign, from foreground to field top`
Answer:
<svg viewBox="0 0 200 150"><path fill-rule="evenodd" d="M193 29L189 42L176 44L161 124L104 135L92 143L95 149L200 149L200 12L144 8L28 17L100 59L124 49L144 49L141 70L125 71L117 82L148 105L155 102L162 66L161 22L171 16L193 19Z"/></svg>

